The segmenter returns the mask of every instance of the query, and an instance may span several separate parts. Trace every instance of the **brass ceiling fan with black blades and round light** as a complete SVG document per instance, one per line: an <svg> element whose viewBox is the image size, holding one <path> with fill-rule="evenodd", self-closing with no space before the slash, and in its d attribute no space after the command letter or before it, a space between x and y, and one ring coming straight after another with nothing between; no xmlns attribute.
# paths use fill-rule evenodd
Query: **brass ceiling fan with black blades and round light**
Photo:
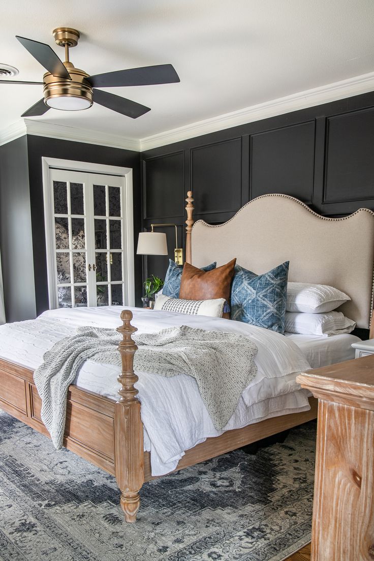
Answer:
<svg viewBox="0 0 374 561"><path fill-rule="evenodd" d="M69 48L76 47L78 44L79 31L70 27L57 27L53 31L53 36L56 43L65 49L65 62L58 58L49 45L16 35L19 42L47 70L43 76L43 82L0 80L0 84L39 84L44 86L44 97L36 102L33 107L27 109L21 117L43 115L50 108L79 111L80 109L88 109L93 103L99 103L117 113L136 119L150 111L150 108L96 88L180 82L179 76L172 65L129 68L128 70L90 76L84 70L75 68L69 60Z"/></svg>

